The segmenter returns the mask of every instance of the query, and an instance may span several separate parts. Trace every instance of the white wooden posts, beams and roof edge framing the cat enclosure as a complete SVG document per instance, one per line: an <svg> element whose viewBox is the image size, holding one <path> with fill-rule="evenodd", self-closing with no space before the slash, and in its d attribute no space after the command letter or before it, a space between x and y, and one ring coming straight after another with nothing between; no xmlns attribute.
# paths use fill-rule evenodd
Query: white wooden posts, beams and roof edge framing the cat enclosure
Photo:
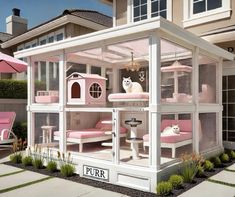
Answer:
<svg viewBox="0 0 235 197"><path fill-rule="evenodd" d="M59 67L62 68L59 70L59 78L60 78L60 85L59 85L59 96L60 101L57 104L49 104L49 105L41 105L32 103L34 97L34 87L33 83L28 84L29 90L29 101L28 101L28 121L29 121L29 145L34 145L34 114L35 113L59 113L59 131L60 131L60 139L59 139L59 150L61 152L66 152L66 113L67 112L110 112L113 115L113 125L112 131L116 134L115 138L111 136L104 136L103 138L99 139L90 139L92 141L97 140L106 140L106 139L113 139L113 159L112 161L105 161L98 158L89 158L85 154L76 154L76 152L72 153L72 157L74 160L78 162L76 166L78 168L78 173L82 174L82 165L93 165L95 167L106 168L110 170L110 180L111 183L119 184L118 177L121 174L124 177L122 180L127 179L130 180L129 183L126 184L128 186L132 186L133 182L131 182L130 177L135 178L135 183L139 183L138 188L141 188L147 191L155 192L155 186L158 181L158 172L159 169L163 166L161 165L161 142L160 142L160 132L155 132L160 130L160 120L161 114L163 113L190 113L193 119L193 132L195 133L196 125L197 125L197 117L198 113L201 112L218 112L220 116L218 116L219 121L221 121L221 101L219 104L212 104L212 105L201 105L194 98L194 102L191 104L163 104L161 103L161 91L160 91L160 84L161 84L161 77L160 77L160 54L161 54L161 45L160 41L162 37L167 37L172 42L177 42L179 45L190 48L193 51L194 61L193 67L197 67L197 57L195 53L199 53L203 51L209 51L208 54L214 54L215 56L219 56L221 58L232 60L234 55L228 53L227 51L222 50L216 46L213 46L201 38L195 36L194 34L181 29L180 27L171 24L169 21L162 19L160 17L148 19L145 21L140 21L136 23L130 23L127 25L117 26L114 28L109 28L106 30L98 31L89 33L86 35L68 38L60 42L51 43L50 45L42 45L37 46L35 48L30 48L28 50L18 51L15 53L15 57L22 58L28 57L29 60L36 59L38 57L46 57L46 56L53 56L59 55L60 56L60 63ZM149 106L146 108L139 108L139 111L147 111L149 112L149 134L150 134L150 151L149 151L149 165L148 167L143 166L133 166L127 165L126 163L120 162L120 142L119 139L121 134L119 133L120 127L120 111L137 111L136 107L123 107L123 108L115 108L115 107L104 107L104 108L79 108L75 106L67 106L66 105L66 54L79 52L82 50L103 47L104 45L111 45L114 43L125 42L135 39L141 38L149 38L149 92L150 92L150 99L149 99ZM203 51L203 54L204 54ZM32 62L32 61L31 61ZM221 66L221 65L220 65ZM34 68L30 65L28 69L28 77L29 82L34 82L34 75L33 71ZM118 73L117 68L114 68L115 72ZM197 70L196 70L197 71ZM30 73L31 72L31 73ZM196 73L195 73L196 74ZM195 75L194 74L194 75ZM219 73L222 74L222 73ZM118 76L114 76L114 80L118 80ZM193 76L193 87L197 87L196 83L198 83L198 78ZM118 87L114 87L114 92L119 91ZM195 90L194 96L197 95L197 90ZM219 132L221 132L221 124L218 124ZM195 138L195 139L194 139ZM75 139L69 139L71 143L89 143L89 139L85 141L76 141ZM193 144L199 143L198 135L193 135ZM219 139L221 140L221 139ZM185 142L183 142L185 143ZM188 142L189 143L189 142ZM192 142L190 142L192 143ZM182 144L180 144L182 145ZM172 145L166 145L172 146ZM81 145L82 147L82 145ZM178 144L171 147L172 149L176 149ZM197 149L197 147L193 147ZM221 148L221 147L214 147ZM82 148L81 148L82 149ZM58 149L57 149L58 150ZM174 151L174 150L173 150ZM174 160L175 162L176 160ZM172 163L171 163L172 164ZM164 164L164 166L166 166ZM141 180L140 180L141 179ZM142 181L145 181L146 185L142 186ZM135 184L134 183L134 184ZM135 187L135 185L134 185ZM137 187L137 186L136 186Z"/></svg>

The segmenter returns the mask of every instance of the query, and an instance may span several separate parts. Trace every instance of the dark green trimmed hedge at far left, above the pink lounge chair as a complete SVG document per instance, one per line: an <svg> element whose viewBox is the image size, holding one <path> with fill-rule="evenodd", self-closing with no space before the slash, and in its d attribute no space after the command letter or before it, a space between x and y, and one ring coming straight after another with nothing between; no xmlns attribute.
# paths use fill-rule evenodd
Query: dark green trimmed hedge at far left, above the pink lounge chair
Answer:
<svg viewBox="0 0 235 197"><path fill-rule="evenodd" d="M36 81L35 90L44 90L45 83ZM0 80L0 98L2 99L27 99L26 80Z"/></svg>

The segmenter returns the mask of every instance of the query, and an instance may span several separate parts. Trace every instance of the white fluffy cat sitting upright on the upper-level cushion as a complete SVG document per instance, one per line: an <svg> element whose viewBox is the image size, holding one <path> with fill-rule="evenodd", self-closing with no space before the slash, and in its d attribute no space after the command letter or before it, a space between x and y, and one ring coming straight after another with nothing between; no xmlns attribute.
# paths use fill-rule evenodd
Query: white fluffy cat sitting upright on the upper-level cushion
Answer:
<svg viewBox="0 0 235 197"><path fill-rule="evenodd" d="M126 93L143 92L142 86L138 82L132 82L130 77L123 77L122 87L126 91Z"/></svg>

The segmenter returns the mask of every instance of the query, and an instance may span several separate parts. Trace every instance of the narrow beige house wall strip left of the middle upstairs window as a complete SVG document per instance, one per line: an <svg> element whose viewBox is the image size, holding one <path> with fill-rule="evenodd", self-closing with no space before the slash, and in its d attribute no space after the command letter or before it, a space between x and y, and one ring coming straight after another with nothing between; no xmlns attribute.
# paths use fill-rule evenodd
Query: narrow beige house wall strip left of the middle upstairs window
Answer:
<svg viewBox="0 0 235 197"><path fill-rule="evenodd" d="M127 23L127 0L118 0L116 1L116 23L117 26L124 25Z"/></svg>

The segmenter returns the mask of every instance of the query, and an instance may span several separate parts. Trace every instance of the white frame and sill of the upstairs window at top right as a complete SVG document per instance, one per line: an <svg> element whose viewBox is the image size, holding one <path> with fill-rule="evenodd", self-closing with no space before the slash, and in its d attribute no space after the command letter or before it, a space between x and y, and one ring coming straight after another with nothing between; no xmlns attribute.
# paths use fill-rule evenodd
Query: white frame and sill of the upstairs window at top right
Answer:
<svg viewBox="0 0 235 197"><path fill-rule="evenodd" d="M183 26L190 27L199 25L219 19L228 18L231 15L231 3L230 0L222 0L222 7L210 11L205 11L199 14L192 14L193 1L184 0L184 20Z"/></svg>

